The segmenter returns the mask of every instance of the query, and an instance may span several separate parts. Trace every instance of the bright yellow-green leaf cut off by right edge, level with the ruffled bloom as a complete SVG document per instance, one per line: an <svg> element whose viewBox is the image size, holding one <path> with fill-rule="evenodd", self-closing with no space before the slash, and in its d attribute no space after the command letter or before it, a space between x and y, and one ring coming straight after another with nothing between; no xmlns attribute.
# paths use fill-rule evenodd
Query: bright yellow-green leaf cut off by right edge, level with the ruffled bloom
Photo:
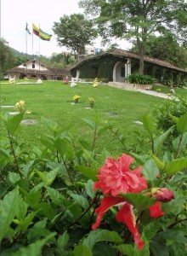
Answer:
<svg viewBox="0 0 187 256"><path fill-rule="evenodd" d="M178 171L183 170L186 167L187 167L187 159L180 158L180 159L170 161L165 167L165 172L167 173L167 176L170 176L175 174Z"/></svg>

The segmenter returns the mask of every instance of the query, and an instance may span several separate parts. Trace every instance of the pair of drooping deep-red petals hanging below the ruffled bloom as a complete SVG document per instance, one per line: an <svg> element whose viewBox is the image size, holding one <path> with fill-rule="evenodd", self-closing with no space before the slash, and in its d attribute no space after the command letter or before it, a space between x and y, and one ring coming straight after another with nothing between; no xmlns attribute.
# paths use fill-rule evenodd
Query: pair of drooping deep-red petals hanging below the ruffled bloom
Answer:
<svg viewBox="0 0 187 256"><path fill-rule="evenodd" d="M121 206L122 208L116 214L116 220L127 225L128 230L133 234L133 239L138 245L139 250L144 247L144 241L140 239L139 230L136 224L136 218L133 214L133 206L125 201L121 197L107 196L101 201L101 206L96 209L98 214L96 223L93 224L92 229L96 230L99 227L99 224L109 208L114 206Z"/></svg>

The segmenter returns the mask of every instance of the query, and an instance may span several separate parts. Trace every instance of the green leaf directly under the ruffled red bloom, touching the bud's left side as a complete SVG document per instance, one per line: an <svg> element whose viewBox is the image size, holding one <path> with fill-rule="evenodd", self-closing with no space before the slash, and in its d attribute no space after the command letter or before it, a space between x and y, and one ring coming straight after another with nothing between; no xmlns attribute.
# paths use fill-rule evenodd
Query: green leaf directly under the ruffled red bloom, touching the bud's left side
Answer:
<svg viewBox="0 0 187 256"><path fill-rule="evenodd" d="M152 198L146 195L135 194L135 193L127 193L127 194L121 194L121 195L129 203L131 203L133 207L135 207L138 211L143 211L156 203L155 200L153 200Z"/></svg>

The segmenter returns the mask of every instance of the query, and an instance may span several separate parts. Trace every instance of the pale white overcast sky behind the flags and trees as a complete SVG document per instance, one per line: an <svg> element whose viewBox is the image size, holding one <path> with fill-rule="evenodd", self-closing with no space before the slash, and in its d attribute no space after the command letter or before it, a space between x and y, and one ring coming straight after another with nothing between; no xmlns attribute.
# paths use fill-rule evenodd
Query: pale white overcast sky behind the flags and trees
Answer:
<svg viewBox="0 0 187 256"><path fill-rule="evenodd" d="M26 52L26 22L32 32L32 23L40 26L42 31L52 34L51 40L40 40L40 54L51 56L66 50L59 47L56 36L52 31L54 22L59 22L63 15L83 13L78 8L79 0L0 0L1 1L1 38L4 38L10 47ZM118 43L115 41L115 43ZM120 47L127 49L129 44L121 42ZM96 40L95 47L100 47ZM123 47L124 46L124 47ZM33 35L33 54L38 54L39 40ZM27 33L27 53L32 54L32 36Z"/></svg>

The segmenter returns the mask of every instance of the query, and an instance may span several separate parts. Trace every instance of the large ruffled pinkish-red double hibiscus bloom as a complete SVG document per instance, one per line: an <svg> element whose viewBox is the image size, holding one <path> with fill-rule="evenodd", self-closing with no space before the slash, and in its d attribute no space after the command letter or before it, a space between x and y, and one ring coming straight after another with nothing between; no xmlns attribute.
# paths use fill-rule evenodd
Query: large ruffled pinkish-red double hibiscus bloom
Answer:
<svg viewBox="0 0 187 256"><path fill-rule="evenodd" d="M141 166L131 171L129 166L133 157L122 154L117 162L111 158L105 160L105 165L99 170L99 182L94 183L94 190L103 190L104 195L119 195L119 193L139 193L147 189L146 177L141 177Z"/></svg>

